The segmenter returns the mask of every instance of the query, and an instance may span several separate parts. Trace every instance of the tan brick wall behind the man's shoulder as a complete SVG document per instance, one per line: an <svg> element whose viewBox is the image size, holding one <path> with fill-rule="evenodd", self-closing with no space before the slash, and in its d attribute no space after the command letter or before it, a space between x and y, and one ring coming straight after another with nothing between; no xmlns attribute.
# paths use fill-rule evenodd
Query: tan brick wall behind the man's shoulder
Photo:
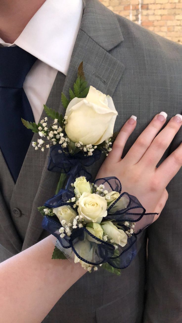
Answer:
<svg viewBox="0 0 182 323"><path fill-rule="evenodd" d="M100 0L113 12L182 44L182 0Z"/></svg>

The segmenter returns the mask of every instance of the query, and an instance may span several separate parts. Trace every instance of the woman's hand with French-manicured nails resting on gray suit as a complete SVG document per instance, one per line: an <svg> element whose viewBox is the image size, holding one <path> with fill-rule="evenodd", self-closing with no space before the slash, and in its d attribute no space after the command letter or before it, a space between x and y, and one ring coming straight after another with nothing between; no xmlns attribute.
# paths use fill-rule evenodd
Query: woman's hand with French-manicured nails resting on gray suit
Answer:
<svg viewBox="0 0 182 323"><path fill-rule="evenodd" d="M168 198L166 186L182 166L182 144L180 144L156 168L182 125L182 116L178 114L157 135L166 122L166 117L165 112L156 115L126 156L121 159L124 145L136 126L135 118L132 116L120 130L112 151L97 174L97 178L116 176L121 181L122 192L136 196L145 207L146 213L160 214ZM156 215L154 221L157 218Z"/></svg>

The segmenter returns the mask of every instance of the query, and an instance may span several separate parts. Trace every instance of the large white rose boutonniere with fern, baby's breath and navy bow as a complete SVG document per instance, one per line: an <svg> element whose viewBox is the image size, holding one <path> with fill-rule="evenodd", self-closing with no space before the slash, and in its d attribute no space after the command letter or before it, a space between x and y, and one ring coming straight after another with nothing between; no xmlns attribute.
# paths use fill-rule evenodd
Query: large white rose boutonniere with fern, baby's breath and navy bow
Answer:
<svg viewBox="0 0 182 323"><path fill-rule="evenodd" d="M56 193L68 173L74 177L86 174L91 179L85 167L98 160L102 152L108 155L116 138L113 129L118 113L112 98L92 86L88 87L83 62L78 68L73 90L69 92L69 99L64 93L61 95L66 109L64 116L44 105L47 116L54 120L49 126L48 117L38 124L22 119L28 129L40 136L37 142L32 142L35 150L50 148L48 170L62 174Z"/></svg>

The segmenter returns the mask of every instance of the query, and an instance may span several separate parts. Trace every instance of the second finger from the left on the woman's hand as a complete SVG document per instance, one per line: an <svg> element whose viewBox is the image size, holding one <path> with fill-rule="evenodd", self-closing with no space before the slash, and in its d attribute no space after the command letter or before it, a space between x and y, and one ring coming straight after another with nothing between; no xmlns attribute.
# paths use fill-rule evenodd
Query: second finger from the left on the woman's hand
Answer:
<svg viewBox="0 0 182 323"><path fill-rule="evenodd" d="M132 161L133 164L136 164L142 158L156 134L166 122L166 117L166 112L161 112L154 117L124 157L126 161Z"/></svg>

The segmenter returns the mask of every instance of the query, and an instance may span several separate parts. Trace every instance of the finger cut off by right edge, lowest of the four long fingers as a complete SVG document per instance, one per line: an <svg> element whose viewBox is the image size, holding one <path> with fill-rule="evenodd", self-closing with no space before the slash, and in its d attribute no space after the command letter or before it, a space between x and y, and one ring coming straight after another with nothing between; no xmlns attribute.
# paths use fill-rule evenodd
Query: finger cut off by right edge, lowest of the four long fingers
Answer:
<svg viewBox="0 0 182 323"><path fill-rule="evenodd" d="M172 180L182 166L182 143L156 169L156 176L165 186Z"/></svg>

